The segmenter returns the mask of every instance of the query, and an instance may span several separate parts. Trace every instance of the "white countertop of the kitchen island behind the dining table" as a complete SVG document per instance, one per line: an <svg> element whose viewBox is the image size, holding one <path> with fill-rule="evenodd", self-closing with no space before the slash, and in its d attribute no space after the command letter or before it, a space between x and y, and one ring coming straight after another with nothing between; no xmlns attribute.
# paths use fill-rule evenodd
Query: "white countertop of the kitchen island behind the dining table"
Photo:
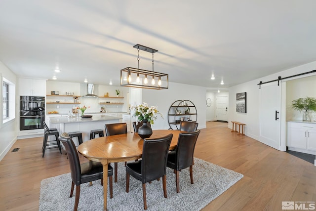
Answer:
<svg viewBox="0 0 316 211"><path fill-rule="evenodd" d="M108 120L121 120L118 117L106 116L106 115L95 115L92 118L81 118L81 117L49 117L50 124L67 124L67 123L86 123L86 122L100 122Z"/></svg>

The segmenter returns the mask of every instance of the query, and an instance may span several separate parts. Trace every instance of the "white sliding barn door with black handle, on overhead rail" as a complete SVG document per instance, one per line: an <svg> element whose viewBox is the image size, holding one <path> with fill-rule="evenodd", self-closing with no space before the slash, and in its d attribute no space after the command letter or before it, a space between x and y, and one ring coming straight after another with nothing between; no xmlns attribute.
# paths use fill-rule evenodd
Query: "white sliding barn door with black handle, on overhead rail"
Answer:
<svg viewBox="0 0 316 211"><path fill-rule="evenodd" d="M280 150L281 85L261 85L259 91L259 141Z"/></svg>

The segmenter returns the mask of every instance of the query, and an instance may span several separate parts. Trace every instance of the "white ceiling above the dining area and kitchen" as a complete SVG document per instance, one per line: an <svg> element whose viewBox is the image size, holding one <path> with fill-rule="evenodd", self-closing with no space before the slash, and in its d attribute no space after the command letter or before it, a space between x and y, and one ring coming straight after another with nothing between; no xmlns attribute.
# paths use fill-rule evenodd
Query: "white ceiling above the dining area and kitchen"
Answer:
<svg viewBox="0 0 316 211"><path fill-rule="evenodd" d="M217 90L315 61L315 11L316 0L1 0L0 61L18 76L119 85L139 43L170 82ZM140 51L139 68L151 59Z"/></svg>

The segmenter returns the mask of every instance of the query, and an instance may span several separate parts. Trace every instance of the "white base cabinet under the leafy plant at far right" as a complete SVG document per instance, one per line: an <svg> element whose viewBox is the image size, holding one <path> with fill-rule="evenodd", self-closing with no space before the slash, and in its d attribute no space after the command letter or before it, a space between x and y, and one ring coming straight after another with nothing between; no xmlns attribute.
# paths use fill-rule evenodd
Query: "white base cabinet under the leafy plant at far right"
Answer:
<svg viewBox="0 0 316 211"><path fill-rule="evenodd" d="M289 150L316 154L316 124L287 123L287 147Z"/></svg>

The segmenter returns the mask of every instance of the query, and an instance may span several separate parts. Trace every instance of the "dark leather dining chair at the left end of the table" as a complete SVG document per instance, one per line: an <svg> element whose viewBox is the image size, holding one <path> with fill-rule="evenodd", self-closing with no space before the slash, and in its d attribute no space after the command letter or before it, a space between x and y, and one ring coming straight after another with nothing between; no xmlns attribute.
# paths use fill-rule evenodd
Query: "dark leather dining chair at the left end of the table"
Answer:
<svg viewBox="0 0 316 211"><path fill-rule="evenodd" d="M77 211L78 204L79 204L79 196L80 196L80 184L101 179L101 185L103 185L103 167L101 163L94 162L94 161L89 161L88 163L80 164L76 146L73 140L69 137L69 135L66 132L64 132L58 138L65 146L65 149L68 155L71 179L72 179L70 198L73 197L74 187L76 185L76 198L75 198L74 211ZM108 176L109 176L110 198L113 198L112 175L113 175L113 168L111 167L111 165L109 165Z"/></svg>

